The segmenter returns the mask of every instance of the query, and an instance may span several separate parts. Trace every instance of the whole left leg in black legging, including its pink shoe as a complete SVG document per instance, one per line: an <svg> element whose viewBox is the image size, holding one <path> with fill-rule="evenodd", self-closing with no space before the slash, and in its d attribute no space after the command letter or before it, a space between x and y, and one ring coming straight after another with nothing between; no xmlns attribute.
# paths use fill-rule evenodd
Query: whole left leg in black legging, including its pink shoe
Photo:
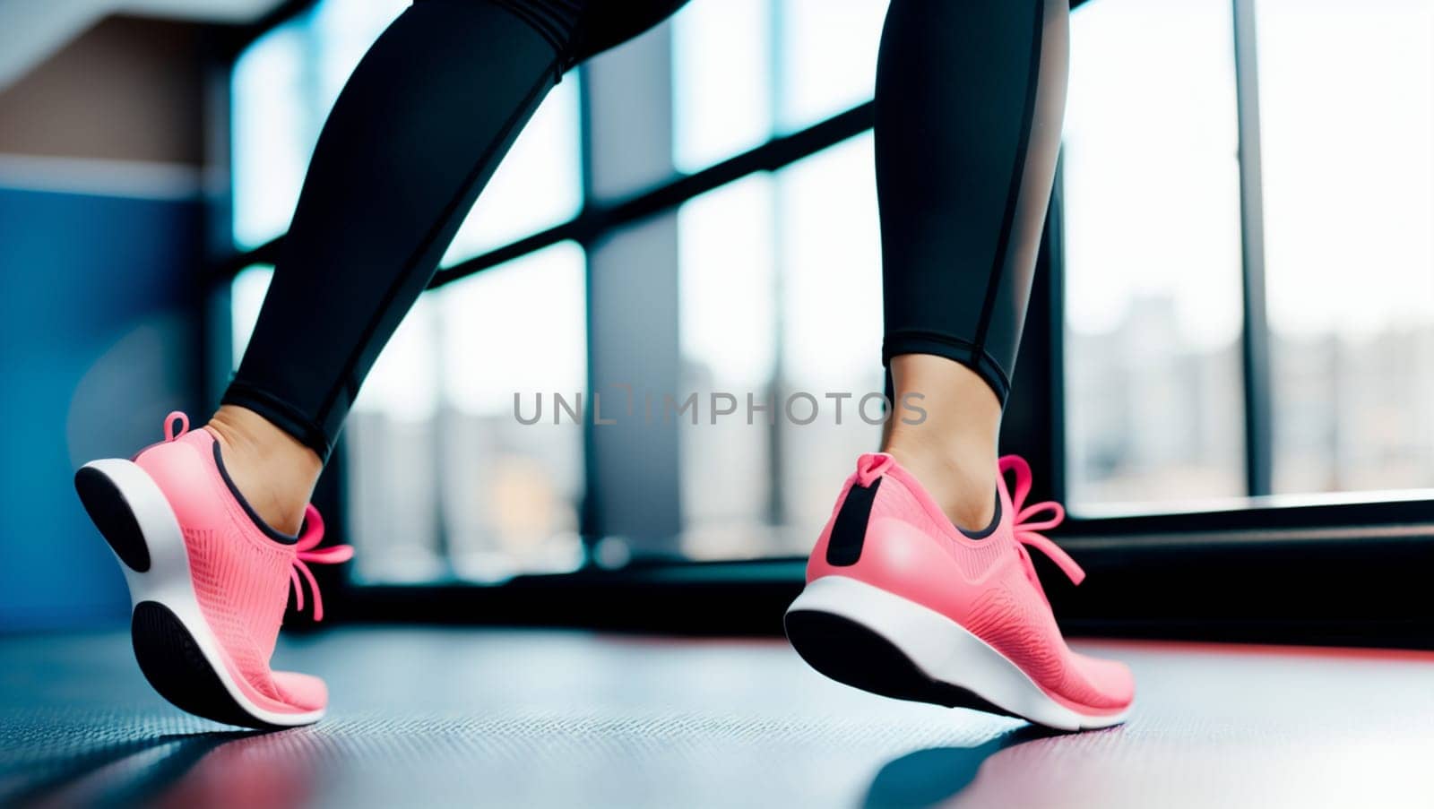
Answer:
<svg viewBox="0 0 1434 809"><path fill-rule="evenodd" d="M671 7L673 4L667 4ZM379 350L561 72L640 30L652 0L420 0L379 39L318 139L274 284L208 430L93 460L75 489L125 569L135 657L175 706L247 727L323 717L323 680L270 661L285 604L323 618L305 508ZM303 521L303 532L300 522ZM291 592L293 591L293 592Z"/></svg>

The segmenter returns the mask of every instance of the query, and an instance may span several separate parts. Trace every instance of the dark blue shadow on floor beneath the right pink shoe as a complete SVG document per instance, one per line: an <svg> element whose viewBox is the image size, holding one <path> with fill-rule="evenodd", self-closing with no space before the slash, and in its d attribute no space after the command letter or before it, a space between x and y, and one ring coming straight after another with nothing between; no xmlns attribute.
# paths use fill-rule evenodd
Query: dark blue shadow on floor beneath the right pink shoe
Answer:
<svg viewBox="0 0 1434 809"><path fill-rule="evenodd" d="M876 773L866 790L866 809L895 809L945 803L975 780L991 756L1041 739L1068 736L1035 724L1015 727L974 747L929 747L895 759Z"/></svg>

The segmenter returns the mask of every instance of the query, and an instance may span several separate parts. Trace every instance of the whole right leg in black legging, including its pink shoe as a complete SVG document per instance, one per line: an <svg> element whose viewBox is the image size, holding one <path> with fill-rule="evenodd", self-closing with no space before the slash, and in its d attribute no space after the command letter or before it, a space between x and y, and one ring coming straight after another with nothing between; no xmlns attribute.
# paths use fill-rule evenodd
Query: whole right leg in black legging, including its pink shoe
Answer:
<svg viewBox="0 0 1434 809"><path fill-rule="evenodd" d="M1078 730L1124 722L1134 678L1065 644L1031 561L1084 578L1041 534L1064 511L1028 503L1030 466L995 450L1055 169L1065 3L892 0L876 80L883 354L898 406L922 394L926 420L899 407L889 455L856 460L786 630L858 689Z"/></svg>

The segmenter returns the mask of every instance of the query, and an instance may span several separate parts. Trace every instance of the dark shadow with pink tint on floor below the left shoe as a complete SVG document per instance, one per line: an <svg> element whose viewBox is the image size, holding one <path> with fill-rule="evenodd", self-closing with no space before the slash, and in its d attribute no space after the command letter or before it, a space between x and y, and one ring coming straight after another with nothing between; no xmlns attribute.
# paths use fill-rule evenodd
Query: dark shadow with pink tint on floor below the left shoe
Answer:
<svg viewBox="0 0 1434 809"><path fill-rule="evenodd" d="M30 776L4 779L0 805L298 806L310 793L303 770L271 766L274 747L291 747L294 733L169 733L54 756L26 766Z"/></svg>

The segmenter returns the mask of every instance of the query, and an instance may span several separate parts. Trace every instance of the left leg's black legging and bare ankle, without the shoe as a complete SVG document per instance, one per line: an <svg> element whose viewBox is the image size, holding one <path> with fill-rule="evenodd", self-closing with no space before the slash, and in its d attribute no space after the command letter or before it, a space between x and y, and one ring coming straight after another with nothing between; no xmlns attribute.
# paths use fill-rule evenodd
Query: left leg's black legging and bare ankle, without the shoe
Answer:
<svg viewBox="0 0 1434 809"><path fill-rule="evenodd" d="M304 514L358 387L562 72L680 0L419 0L314 149L258 324L209 422L274 528Z"/></svg>

